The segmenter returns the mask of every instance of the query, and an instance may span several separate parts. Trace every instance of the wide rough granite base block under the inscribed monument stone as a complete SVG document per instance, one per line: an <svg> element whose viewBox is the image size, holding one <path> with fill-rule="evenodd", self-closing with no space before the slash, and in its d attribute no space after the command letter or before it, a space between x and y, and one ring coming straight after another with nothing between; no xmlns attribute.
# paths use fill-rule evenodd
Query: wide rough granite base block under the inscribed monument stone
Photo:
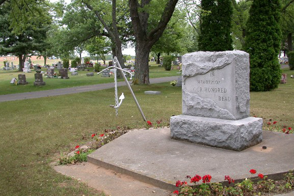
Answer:
<svg viewBox="0 0 294 196"><path fill-rule="evenodd" d="M262 141L262 119L224 120L190 115L171 117L171 138L241 151Z"/></svg>

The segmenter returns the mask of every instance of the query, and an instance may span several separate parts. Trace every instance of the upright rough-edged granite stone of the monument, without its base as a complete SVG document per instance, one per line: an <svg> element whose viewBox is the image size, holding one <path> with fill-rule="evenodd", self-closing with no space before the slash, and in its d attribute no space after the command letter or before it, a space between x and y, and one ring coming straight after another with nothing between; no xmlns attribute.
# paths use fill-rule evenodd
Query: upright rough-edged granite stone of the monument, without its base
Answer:
<svg viewBox="0 0 294 196"><path fill-rule="evenodd" d="M249 116L249 54L194 52L183 56L185 115L238 120Z"/></svg>

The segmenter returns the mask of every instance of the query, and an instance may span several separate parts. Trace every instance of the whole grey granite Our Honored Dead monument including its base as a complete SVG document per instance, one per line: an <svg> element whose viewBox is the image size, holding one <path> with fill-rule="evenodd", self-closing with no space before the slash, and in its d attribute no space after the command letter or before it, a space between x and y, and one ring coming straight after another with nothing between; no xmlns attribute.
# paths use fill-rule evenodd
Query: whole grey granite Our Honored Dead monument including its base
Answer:
<svg viewBox="0 0 294 196"><path fill-rule="evenodd" d="M262 119L249 117L249 54L194 52L183 56L182 115L171 138L229 150L262 141Z"/></svg>

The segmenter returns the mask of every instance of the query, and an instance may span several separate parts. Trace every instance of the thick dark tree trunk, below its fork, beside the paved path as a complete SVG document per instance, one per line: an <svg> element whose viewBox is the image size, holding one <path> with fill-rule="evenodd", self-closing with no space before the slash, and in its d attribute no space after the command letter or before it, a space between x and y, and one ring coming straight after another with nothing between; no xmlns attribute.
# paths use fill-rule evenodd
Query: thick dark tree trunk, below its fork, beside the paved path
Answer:
<svg viewBox="0 0 294 196"><path fill-rule="evenodd" d="M150 50L151 47L148 47L146 42L136 41L135 76L140 84L150 84L148 64Z"/></svg>

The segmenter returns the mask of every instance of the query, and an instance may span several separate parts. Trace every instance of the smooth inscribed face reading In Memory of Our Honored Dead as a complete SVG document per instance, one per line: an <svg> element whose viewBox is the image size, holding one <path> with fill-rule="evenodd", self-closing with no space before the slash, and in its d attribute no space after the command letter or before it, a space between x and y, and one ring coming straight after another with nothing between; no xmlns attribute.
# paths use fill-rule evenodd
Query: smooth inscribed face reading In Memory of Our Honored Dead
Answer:
<svg viewBox="0 0 294 196"><path fill-rule="evenodd" d="M202 75L189 77L184 87L189 93L213 100L220 108L235 115L235 67L227 65Z"/></svg>

